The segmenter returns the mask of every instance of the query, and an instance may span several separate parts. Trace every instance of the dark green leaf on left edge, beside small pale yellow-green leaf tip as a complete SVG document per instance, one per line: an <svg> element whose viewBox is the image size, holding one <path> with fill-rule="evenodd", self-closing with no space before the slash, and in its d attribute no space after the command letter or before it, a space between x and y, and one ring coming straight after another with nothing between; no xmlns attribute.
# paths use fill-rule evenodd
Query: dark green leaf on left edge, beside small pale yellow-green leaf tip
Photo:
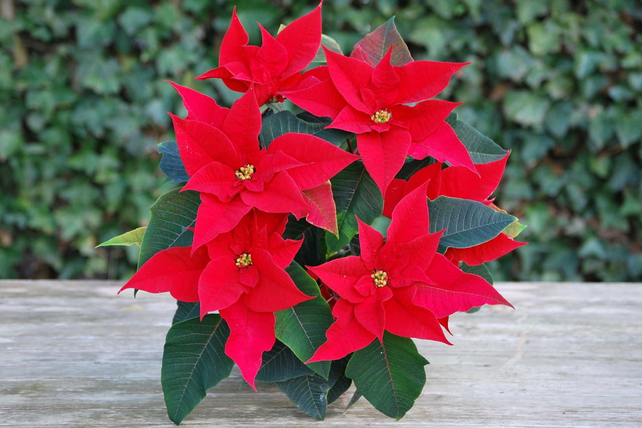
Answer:
<svg viewBox="0 0 642 428"><path fill-rule="evenodd" d="M152 205L152 216L141 243L138 268L155 253L173 246L189 246L194 234L189 227L196 223L196 212L200 205L197 192L173 189L160 195Z"/></svg>

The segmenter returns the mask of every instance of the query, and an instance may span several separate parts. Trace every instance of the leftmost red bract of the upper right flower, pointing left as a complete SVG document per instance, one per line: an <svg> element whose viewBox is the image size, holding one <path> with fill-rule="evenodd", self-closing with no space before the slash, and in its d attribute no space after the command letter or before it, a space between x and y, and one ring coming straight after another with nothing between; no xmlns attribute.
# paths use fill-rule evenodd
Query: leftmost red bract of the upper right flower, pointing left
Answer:
<svg viewBox="0 0 642 428"><path fill-rule="evenodd" d="M334 119L347 105L331 79L322 80L310 87L283 91L281 95L319 117L329 116Z"/></svg>

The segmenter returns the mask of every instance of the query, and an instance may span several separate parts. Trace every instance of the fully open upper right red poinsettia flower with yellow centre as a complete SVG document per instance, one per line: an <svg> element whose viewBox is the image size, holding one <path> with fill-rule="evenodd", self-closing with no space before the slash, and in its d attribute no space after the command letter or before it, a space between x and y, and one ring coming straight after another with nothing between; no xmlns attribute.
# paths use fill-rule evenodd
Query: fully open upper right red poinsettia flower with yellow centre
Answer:
<svg viewBox="0 0 642 428"><path fill-rule="evenodd" d="M324 48L325 49L325 48ZM357 133L366 169L381 193L403 166L406 155L430 155L475 171L464 144L444 119L458 103L429 100L466 64L414 61L390 64L392 48L376 67L325 49L327 67L304 76L316 84L284 92L299 107L334 121L329 128ZM409 103L423 101L413 107Z"/></svg>

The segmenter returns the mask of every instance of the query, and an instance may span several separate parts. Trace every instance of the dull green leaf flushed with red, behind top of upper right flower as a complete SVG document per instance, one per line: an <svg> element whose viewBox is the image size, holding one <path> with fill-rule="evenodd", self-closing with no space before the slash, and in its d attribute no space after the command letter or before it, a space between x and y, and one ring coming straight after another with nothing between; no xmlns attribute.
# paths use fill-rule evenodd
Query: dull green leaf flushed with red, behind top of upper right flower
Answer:
<svg viewBox="0 0 642 428"><path fill-rule="evenodd" d="M352 58L365 61L373 67L381 61L381 58L392 47L392 65L404 65L412 62L412 56L408 46L401 38L394 17L388 19L378 26L372 33L363 37L351 53Z"/></svg>

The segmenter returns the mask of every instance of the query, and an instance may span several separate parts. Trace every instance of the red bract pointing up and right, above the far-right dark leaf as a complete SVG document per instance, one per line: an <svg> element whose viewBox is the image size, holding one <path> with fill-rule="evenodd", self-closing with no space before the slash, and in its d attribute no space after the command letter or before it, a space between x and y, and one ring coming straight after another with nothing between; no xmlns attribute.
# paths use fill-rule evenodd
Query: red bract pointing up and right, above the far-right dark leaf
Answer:
<svg viewBox="0 0 642 428"><path fill-rule="evenodd" d="M440 196L451 198L485 201L497 189L499 180L504 173L508 159L505 157L487 164L475 164L479 175L460 166L447 167L442 171Z"/></svg>

